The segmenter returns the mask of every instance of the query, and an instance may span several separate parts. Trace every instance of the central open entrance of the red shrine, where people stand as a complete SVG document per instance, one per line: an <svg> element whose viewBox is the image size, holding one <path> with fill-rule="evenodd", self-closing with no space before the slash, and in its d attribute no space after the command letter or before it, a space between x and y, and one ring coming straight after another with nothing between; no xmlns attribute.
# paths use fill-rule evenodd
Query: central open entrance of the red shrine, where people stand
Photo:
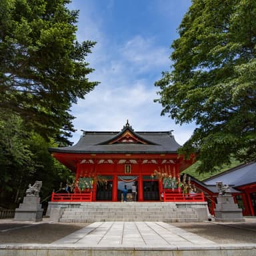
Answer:
<svg viewBox="0 0 256 256"><path fill-rule="evenodd" d="M133 199L131 186L135 184L137 187L137 198ZM117 177L117 201L122 201L122 191L127 187L127 201L138 201L138 176L118 176Z"/></svg>

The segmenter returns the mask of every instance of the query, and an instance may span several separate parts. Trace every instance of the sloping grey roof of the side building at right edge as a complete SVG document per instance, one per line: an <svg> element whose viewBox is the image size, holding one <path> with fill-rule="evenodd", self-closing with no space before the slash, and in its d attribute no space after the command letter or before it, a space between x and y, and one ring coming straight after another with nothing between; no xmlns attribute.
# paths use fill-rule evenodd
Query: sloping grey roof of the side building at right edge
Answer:
<svg viewBox="0 0 256 256"><path fill-rule="evenodd" d="M256 162L245 163L229 169L219 175L206 179L204 183L206 185L215 185L217 181L223 181L223 184L233 187L256 183Z"/></svg>

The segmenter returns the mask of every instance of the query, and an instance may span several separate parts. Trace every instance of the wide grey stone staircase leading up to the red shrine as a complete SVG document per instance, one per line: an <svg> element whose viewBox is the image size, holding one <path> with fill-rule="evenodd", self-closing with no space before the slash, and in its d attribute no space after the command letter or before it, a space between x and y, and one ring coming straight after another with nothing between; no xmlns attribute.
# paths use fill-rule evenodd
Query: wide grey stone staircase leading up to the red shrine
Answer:
<svg viewBox="0 0 256 256"><path fill-rule="evenodd" d="M65 208L59 222L95 221L164 221L198 222L195 208L177 207L175 203L163 202L93 202L81 203L75 208Z"/></svg>

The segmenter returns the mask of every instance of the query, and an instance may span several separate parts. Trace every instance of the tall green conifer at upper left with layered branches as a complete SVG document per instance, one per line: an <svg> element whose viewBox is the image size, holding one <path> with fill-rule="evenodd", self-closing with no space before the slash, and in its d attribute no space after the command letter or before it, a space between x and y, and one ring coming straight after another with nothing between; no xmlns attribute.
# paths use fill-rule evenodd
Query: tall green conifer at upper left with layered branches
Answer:
<svg viewBox="0 0 256 256"><path fill-rule="evenodd" d="M69 0L0 1L0 109L31 131L66 143L74 131L72 103L97 82L85 62L95 42L76 41L78 11Z"/></svg>

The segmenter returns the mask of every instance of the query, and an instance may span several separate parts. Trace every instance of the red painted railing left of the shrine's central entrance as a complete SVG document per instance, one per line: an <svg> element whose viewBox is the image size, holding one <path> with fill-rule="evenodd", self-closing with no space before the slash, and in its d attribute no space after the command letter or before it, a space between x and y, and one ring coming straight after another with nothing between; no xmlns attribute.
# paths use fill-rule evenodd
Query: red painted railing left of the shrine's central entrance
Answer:
<svg viewBox="0 0 256 256"><path fill-rule="evenodd" d="M93 201L93 192L84 192L84 193L52 193L51 194L52 202L91 202Z"/></svg>

